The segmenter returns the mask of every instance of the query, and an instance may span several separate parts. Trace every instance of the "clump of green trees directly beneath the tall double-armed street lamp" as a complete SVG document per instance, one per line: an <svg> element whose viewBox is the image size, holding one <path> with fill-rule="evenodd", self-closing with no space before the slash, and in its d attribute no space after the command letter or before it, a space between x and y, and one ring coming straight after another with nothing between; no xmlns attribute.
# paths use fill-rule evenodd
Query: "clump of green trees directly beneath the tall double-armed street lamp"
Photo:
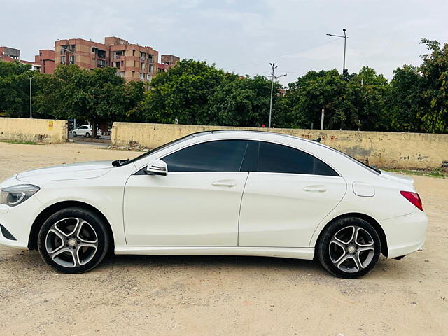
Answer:
<svg viewBox="0 0 448 336"><path fill-rule="evenodd" d="M343 130L386 129L388 82L364 66L345 80L336 70L309 71L288 87L285 99L293 127L324 127Z"/></svg>

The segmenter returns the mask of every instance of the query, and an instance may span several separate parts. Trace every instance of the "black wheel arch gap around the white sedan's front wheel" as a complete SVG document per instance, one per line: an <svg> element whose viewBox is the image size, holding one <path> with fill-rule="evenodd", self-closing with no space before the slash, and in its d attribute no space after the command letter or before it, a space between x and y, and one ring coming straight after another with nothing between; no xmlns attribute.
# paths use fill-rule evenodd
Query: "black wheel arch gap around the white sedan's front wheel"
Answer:
<svg viewBox="0 0 448 336"><path fill-rule="evenodd" d="M114 243L111 223L109 223L106 216L104 216L104 214L102 214L101 211L99 211L97 208L95 208L92 205L87 204L85 202L62 201L62 202L57 202L55 204L51 204L49 207L43 209L43 211L41 211L40 214L38 214L38 216L36 217L36 219L33 222L33 225L31 225L31 230L29 232L29 238L28 238L28 249L29 250L37 249L37 238L38 238L39 230L41 230L43 223L45 223L45 221L48 217L50 217L56 211L66 209L66 208L71 208L71 207L87 209L87 210L94 212L99 217L101 217L102 220L104 221L104 223L106 223L106 228L109 232L109 237L111 238L111 244L110 244L111 247L110 248L112 248L112 249L114 248L115 243Z"/></svg>

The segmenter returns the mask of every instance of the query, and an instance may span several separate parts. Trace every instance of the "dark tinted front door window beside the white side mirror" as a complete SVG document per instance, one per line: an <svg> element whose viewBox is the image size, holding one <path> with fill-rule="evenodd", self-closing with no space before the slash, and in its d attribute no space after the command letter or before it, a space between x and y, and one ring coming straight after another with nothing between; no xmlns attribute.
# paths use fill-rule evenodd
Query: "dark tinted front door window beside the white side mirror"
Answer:
<svg viewBox="0 0 448 336"><path fill-rule="evenodd" d="M190 146L164 160L168 172L239 172L247 141L221 140Z"/></svg>

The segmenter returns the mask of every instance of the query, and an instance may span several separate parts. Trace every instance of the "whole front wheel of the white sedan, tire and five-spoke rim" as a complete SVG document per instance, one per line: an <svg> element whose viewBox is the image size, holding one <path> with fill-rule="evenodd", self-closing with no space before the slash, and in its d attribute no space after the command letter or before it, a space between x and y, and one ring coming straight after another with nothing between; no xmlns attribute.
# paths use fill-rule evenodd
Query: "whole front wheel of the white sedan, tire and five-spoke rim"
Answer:
<svg viewBox="0 0 448 336"><path fill-rule="evenodd" d="M38 251L50 266L64 273L83 273L102 262L109 249L106 224L82 208L57 211L43 223Z"/></svg>

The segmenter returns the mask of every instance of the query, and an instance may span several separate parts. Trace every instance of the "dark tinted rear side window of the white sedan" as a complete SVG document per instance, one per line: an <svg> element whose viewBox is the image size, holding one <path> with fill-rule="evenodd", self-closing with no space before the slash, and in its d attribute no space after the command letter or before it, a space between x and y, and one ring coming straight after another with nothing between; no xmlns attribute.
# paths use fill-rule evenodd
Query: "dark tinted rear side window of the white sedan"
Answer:
<svg viewBox="0 0 448 336"><path fill-rule="evenodd" d="M258 172L339 176L334 169L313 155L288 146L260 142Z"/></svg>

